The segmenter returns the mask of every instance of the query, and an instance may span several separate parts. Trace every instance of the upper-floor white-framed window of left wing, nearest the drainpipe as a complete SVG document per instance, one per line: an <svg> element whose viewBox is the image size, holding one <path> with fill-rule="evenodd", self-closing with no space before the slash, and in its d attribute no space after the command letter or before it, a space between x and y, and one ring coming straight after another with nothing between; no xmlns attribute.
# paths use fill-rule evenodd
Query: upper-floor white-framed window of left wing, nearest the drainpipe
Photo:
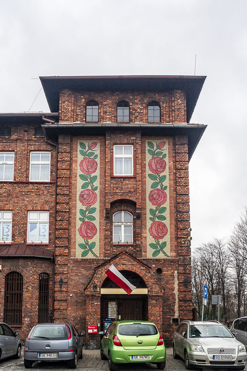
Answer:
<svg viewBox="0 0 247 371"><path fill-rule="evenodd" d="M30 152L30 181L50 181L50 152Z"/></svg>

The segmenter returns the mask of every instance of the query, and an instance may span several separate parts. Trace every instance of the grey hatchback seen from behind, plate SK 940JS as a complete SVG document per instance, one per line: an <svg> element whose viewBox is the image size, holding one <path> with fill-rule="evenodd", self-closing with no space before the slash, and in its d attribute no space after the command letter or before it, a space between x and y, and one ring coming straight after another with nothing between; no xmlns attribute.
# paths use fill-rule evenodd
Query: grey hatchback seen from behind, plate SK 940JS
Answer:
<svg viewBox="0 0 247 371"><path fill-rule="evenodd" d="M82 340L75 326L69 323L38 324L26 339L24 366L31 368L35 361L67 361L76 368L82 358Z"/></svg>

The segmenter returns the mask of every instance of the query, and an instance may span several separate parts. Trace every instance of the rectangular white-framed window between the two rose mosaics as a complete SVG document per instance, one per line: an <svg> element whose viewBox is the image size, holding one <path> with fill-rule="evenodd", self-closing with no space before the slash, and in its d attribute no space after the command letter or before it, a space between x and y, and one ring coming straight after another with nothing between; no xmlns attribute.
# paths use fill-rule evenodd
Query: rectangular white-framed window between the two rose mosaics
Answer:
<svg viewBox="0 0 247 371"><path fill-rule="evenodd" d="M113 175L133 175L133 146L114 145Z"/></svg>

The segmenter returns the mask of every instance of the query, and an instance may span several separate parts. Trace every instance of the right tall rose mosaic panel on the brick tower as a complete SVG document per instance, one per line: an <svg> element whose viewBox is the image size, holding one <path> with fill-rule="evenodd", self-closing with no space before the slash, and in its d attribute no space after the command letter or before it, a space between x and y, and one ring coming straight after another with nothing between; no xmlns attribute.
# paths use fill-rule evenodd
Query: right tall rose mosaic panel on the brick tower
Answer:
<svg viewBox="0 0 247 371"><path fill-rule="evenodd" d="M168 144L146 140L147 257L170 257Z"/></svg>

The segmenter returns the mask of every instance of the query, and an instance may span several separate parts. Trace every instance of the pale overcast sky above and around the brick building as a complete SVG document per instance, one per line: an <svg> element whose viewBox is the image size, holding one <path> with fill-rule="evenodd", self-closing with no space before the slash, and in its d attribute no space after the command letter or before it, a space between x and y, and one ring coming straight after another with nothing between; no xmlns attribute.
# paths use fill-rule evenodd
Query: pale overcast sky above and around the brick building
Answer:
<svg viewBox="0 0 247 371"><path fill-rule="evenodd" d="M194 75L197 55L192 248L228 237L247 204L246 17L246 0L0 0L0 112L28 111L39 76Z"/></svg>

